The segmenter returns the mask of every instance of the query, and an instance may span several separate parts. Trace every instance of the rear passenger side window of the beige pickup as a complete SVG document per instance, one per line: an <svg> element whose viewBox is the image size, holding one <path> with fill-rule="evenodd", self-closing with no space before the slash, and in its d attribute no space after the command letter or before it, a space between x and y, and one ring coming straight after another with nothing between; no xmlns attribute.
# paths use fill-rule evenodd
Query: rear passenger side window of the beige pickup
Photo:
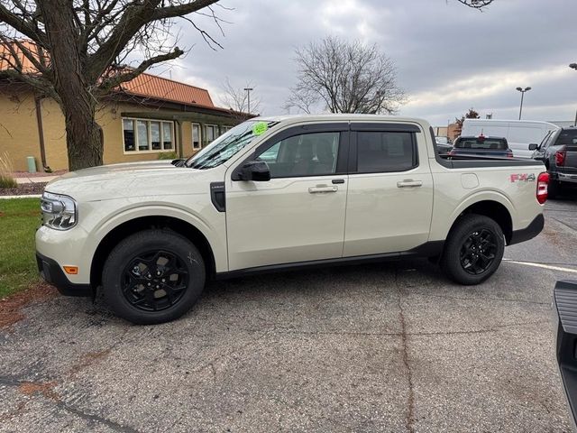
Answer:
<svg viewBox="0 0 577 433"><path fill-rule="evenodd" d="M405 171L417 167L412 133L357 133L357 171L377 173Z"/></svg>

